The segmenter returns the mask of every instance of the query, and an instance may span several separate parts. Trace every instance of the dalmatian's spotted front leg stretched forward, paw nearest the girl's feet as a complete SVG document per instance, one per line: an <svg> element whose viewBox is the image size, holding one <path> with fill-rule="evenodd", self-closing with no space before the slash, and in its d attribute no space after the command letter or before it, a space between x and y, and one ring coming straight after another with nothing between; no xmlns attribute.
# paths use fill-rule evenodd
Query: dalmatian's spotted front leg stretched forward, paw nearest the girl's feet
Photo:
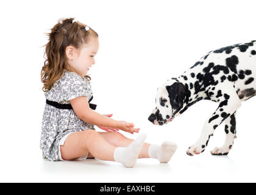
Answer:
<svg viewBox="0 0 256 195"><path fill-rule="evenodd" d="M188 148L187 154L193 156L194 154L200 154L204 152L205 147L211 136L213 136L214 130L230 115L241 106L241 101L236 94L233 85L229 83L222 83L219 88L223 89L222 96L218 98L219 107L216 112L205 122L204 128L201 133L199 140Z"/></svg>

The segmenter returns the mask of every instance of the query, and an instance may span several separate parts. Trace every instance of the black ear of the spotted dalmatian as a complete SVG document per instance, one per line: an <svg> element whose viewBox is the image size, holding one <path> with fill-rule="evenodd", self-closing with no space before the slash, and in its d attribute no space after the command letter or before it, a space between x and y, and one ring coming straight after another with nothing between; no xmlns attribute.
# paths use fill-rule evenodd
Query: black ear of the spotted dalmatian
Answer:
<svg viewBox="0 0 256 195"><path fill-rule="evenodd" d="M186 97L186 87L183 83L175 82L170 86L166 86L169 94L172 110L175 110L174 115L183 107L183 102Z"/></svg>

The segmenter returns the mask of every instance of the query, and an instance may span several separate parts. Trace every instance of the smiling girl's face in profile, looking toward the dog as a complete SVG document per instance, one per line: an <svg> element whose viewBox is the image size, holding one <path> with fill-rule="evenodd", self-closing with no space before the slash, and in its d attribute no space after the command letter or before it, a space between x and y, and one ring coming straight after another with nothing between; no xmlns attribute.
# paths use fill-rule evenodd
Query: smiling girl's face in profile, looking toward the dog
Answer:
<svg viewBox="0 0 256 195"><path fill-rule="evenodd" d="M81 77L87 75L89 68L94 65L94 56L99 49L98 38L90 37L87 44L84 44L80 49L73 48L73 56L68 56L68 63Z"/></svg>

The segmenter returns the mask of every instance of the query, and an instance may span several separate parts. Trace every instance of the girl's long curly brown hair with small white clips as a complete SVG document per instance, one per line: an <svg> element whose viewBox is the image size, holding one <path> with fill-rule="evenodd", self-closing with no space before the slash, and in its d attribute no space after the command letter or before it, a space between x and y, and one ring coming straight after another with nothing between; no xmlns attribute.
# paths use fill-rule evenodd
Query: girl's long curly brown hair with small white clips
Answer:
<svg viewBox="0 0 256 195"><path fill-rule="evenodd" d="M93 30L85 30L85 24L73 21L74 18L59 19L58 23L52 27L49 41L44 46L46 60L41 69L41 82L43 82L43 91L49 91L56 80L62 76L64 70L71 70L67 63L65 50L67 46L74 46L76 49L88 43L89 37L98 37ZM88 80L91 78L85 76Z"/></svg>

